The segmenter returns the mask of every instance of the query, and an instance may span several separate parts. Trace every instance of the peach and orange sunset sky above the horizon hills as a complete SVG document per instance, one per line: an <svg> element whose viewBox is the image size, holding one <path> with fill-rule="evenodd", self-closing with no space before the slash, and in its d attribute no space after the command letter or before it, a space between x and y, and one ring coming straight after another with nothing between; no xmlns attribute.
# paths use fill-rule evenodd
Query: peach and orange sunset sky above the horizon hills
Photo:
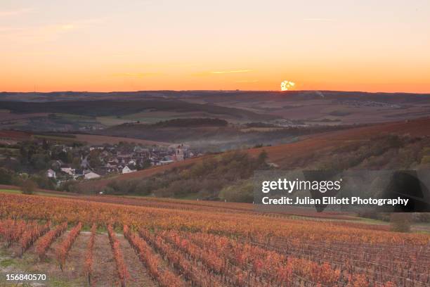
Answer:
<svg viewBox="0 0 430 287"><path fill-rule="evenodd" d="M428 0L0 0L0 91L430 92Z"/></svg>

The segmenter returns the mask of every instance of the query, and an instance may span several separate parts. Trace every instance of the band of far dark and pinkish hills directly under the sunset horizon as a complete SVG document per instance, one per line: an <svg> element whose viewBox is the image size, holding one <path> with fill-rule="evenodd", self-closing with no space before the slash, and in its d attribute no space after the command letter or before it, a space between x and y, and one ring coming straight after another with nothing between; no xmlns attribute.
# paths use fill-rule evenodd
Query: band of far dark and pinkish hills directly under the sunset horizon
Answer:
<svg viewBox="0 0 430 287"><path fill-rule="evenodd" d="M95 119L108 126L133 120L153 123L179 117L218 117L242 123L285 120L303 125L352 125L429 116L430 94L360 91L0 93L2 109L12 110L14 115L73 113L110 117ZM1 118L11 118L11 115L1 115L0 111ZM39 122L33 126L37 125Z"/></svg>

